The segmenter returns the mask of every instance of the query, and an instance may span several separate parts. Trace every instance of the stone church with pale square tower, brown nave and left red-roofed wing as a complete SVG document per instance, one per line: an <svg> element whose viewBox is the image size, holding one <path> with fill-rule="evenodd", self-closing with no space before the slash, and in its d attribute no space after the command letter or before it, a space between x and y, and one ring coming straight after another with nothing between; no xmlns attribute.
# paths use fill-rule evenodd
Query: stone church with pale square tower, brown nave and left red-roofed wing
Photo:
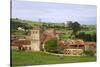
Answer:
<svg viewBox="0 0 100 67"><path fill-rule="evenodd" d="M17 36L16 36L17 37ZM29 47L31 51L40 51L44 49L45 43L55 37L54 29L46 29L42 31L40 28L33 28L28 36L24 38L17 38L13 35L11 37L11 46L12 48Z"/></svg>

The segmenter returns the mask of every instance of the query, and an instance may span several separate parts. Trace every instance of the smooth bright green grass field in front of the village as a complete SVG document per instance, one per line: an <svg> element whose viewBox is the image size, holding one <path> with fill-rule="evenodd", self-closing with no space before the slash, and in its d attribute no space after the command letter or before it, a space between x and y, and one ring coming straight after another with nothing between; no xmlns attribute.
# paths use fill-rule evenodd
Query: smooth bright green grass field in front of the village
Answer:
<svg viewBox="0 0 100 67"><path fill-rule="evenodd" d="M12 51L12 65L43 65L43 64L61 64L76 62L94 62L96 57L90 56L53 56L44 52L18 52Z"/></svg>

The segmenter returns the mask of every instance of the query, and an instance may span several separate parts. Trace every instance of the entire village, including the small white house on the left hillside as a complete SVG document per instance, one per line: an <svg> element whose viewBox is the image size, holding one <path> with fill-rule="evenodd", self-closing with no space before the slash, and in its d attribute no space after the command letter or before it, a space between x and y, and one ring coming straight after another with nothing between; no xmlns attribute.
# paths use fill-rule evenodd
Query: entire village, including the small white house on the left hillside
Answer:
<svg viewBox="0 0 100 67"><path fill-rule="evenodd" d="M22 27L18 27L17 30L24 31ZM62 54L64 56L86 56L84 54L85 51L92 51L96 56L96 42L85 42L78 38L60 39L59 32L55 28L43 29L42 27L36 26L32 27L30 32L24 37L18 38L15 34L11 34L11 49L18 51L48 52L46 49L49 48L45 48L45 45L52 39L57 39L57 45L61 48L58 48L59 52L53 52L55 54Z"/></svg>

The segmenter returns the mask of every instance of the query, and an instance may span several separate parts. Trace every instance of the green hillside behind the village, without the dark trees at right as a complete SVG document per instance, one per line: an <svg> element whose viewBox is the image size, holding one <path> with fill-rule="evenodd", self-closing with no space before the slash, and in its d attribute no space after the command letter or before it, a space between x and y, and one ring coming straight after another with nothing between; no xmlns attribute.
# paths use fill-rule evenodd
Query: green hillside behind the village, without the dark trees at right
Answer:
<svg viewBox="0 0 100 67"><path fill-rule="evenodd" d="M19 31L18 27L24 28L25 31ZM11 32L15 33L19 37L27 35L28 31L30 31L33 27L42 27L42 29L53 28L56 30L56 33L59 35L60 39L63 40L73 37L71 35L72 29L70 29L68 25L65 25L64 23L38 22L18 18L11 19ZM95 36L96 25L81 25L81 30L78 33L80 34L81 32L89 36Z"/></svg>

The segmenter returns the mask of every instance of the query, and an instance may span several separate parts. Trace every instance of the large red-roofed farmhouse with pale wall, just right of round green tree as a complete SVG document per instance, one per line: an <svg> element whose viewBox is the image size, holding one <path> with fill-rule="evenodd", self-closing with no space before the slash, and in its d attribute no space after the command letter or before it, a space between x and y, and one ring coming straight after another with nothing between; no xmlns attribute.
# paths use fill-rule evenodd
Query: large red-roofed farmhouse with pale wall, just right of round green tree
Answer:
<svg viewBox="0 0 100 67"><path fill-rule="evenodd" d="M60 41L60 44L64 47L64 54L67 56L79 56L84 50L84 41L79 39Z"/></svg>

